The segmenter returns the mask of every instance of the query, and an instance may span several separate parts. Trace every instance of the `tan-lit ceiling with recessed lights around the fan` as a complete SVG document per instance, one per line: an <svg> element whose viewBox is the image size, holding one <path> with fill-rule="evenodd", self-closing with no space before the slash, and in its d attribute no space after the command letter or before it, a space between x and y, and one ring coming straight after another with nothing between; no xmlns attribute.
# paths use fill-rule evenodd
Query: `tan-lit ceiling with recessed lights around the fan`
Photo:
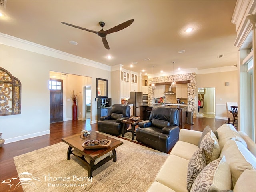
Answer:
<svg viewBox="0 0 256 192"><path fill-rule="evenodd" d="M175 70L200 70L236 65L231 23L235 5L234 0L7 0L6 8L1 7L0 32L136 72L152 73L152 65L154 73L170 72L173 61ZM130 19L130 26L106 36L110 50L100 36L60 23L99 31L100 21L108 30ZM194 28L190 34L184 32L188 27ZM221 54L224 57L218 58ZM108 55L113 58L108 60ZM130 68L132 62L137 64Z"/></svg>

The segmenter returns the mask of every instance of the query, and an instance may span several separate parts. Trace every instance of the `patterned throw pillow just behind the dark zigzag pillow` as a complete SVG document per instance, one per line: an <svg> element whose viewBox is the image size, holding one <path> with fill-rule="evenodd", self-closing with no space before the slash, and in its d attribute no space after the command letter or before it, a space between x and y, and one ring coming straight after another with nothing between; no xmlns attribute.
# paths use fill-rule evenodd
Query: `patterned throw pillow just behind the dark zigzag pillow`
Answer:
<svg viewBox="0 0 256 192"><path fill-rule="evenodd" d="M200 148L204 149L207 164L220 156L218 139L212 131L209 131L204 138L202 138Z"/></svg>

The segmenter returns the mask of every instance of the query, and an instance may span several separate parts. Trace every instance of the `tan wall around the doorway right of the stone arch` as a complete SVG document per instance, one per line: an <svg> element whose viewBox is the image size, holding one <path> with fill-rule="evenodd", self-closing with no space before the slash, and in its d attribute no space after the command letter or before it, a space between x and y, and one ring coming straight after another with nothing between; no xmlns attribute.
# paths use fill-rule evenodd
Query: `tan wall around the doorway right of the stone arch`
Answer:
<svg viewBox="0 0 256 192"><path fill-rule="evenodd" d="M197 87L215 87L216 118L226 118L226 102L238 100L238 76L237 71L219 72L197 75ZM229 82L229 86L225 86Z"/></svg>

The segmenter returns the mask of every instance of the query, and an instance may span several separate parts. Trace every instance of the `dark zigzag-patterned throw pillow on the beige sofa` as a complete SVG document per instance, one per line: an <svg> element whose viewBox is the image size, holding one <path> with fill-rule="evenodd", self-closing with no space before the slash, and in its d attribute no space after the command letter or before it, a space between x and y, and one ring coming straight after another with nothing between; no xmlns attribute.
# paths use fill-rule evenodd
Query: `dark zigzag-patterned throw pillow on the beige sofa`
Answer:
<svg viewBox="0 0 256 192"><path fill-rule="evenodd" d="M192 155L188 163L188 173L187 173L187 189L190 191L194 180L202 169L206 166L206 158L203 149L198 149Z"/></svg>

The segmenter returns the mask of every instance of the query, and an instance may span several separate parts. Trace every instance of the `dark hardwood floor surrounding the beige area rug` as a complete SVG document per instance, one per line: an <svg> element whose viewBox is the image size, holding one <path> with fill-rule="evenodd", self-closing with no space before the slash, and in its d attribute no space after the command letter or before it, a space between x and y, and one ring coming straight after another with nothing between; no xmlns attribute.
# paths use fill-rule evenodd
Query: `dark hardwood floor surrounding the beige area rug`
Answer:
<svg viewBox="0 0 256 192"><path fill-rule="evenodd" d="M214 118L198 117L193 119L194 125L186 124L185 129L202 131L205 126L209 125L212 129L217 129L224 120ZM18 173L15 168L13 157L25 154L46 146L50 146L61 142L61 138L79 134L82 129L96 131L98 130L97 124L90 124L90 119L86 121L66 121L50 124L50 134L30 138L18 142L4 144L0 148L0 181L17 178ZM9 186L1 184L0 191L7 192ZM15 192L23 192L22 188L15 190Z"/></svg>

